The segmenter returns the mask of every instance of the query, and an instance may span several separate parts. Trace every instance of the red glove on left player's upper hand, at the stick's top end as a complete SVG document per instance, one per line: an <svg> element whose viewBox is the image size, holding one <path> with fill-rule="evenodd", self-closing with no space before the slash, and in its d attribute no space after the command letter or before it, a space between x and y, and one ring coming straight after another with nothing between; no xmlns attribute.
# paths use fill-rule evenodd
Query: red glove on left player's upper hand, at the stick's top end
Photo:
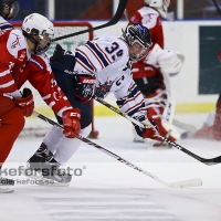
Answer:
<svg viewBox="0 0 221 221"><path fill-rule="evenodd" d="M24 116L30 117L34 110L34 99L31 90L23 88L22 97L14 98L17 106L23 109Z"/></svg>

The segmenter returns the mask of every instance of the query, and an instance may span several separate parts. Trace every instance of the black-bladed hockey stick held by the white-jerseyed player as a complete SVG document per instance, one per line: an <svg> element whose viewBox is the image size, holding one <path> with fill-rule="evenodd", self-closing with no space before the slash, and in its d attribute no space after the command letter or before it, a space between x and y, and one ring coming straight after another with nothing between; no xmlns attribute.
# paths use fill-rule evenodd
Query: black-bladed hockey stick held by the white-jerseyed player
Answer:
<svg viewBox="0 0 221 221"><path fill-rule="evenodd" d="M97 101L98 103L105 105L106 107L108 107L109 109L116 112L117 114L122 115L123 117L127 118L128 120L133 122L134 124L138 125L139 127L145 127L144 124L141 124L140 122L136 120L135 118L128 116L127 114L123 113L120 109L112 106L110 104L108 104L107 102L103 101L102 98L93 95L93 98L95 101ZM211 158L211 159L206 159L206 158L202 158L191 151L189 151L188 149L183 148L182 146L178 145L177 143L175 141L171 141L170 139L159 135L159 137L165 140L166 143L168 143L169 145L172 145L173 147L176 147L177 149L183 151L185 154L189 155L190 157L193 157L194 159L201 161L202 164L204 165L208 165L208 166L211 166L211 165L217 165L217 164L220 164L221 162L221 156L219 157L214 157L214 158Z"/></svg>

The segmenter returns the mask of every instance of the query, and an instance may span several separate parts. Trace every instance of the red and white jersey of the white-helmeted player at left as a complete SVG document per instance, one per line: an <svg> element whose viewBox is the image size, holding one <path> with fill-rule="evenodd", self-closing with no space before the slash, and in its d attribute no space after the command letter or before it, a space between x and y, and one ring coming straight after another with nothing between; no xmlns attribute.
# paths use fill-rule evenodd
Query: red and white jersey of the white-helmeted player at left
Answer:
<svg viewBox="0 0 221 221"><path fill-rule="evenodd" d="M21 97L19 90L29 81L53 112L62 116L71 104L54 80L46 54L31 54L20 30L3 19L1 25L6 29L0 31L0 96Z"/></svg>

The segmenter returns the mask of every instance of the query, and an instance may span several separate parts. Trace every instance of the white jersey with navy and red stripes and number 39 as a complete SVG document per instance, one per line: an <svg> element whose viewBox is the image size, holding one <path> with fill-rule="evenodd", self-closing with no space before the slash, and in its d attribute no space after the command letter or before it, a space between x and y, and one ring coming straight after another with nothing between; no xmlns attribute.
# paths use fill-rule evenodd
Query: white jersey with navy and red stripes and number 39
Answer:
<svg viewBox="0 0 221 221"><path fill-rule="evenodd" d="M114 93L119 108L129 116L146 116L144 96L131 76L131 62L124 39L103 35L75 51L77 74L94 73L95 94L105 97Z"/></svg>

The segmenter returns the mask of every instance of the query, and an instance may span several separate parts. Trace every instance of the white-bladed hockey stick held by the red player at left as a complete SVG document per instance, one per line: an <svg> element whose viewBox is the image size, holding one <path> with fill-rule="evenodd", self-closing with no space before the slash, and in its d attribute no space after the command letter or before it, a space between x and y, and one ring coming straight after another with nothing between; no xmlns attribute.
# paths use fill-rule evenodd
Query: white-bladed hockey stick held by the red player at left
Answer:
<svg viewBox="0 0 221 221"><path fill-rule="evenodd" d="M60 129L63 129L63 127L60 124L53 122L52 119L50 119L50 118L48 118L48 117L45 117L45 116L43 116L43 115L41 115L41 114L39 114L36 112L34 112L33 115L39 117L40 119L43 119L44 122L48 122L49 124L51 124L53 126L59 127ZM126 166L128 166L128 167L130 167L130 168L133 168L133 169L135 169L135 170L137 170L137 171L139 171L139 172L141 172L141 173L144 173L144 175L146 175L146 176L148 176L150 178L152 178L152 179L155 179L156 181L158 181L161 185L165 185L165 186L167 186L169 188L199 187L199 186L202 185L202 181L200 179L191 179L191 180L185 180L185 181L180 181L180 182L166 182L166 181L159 179L158 177L156 177L155 175L151 175L150 172L137 167L136 165L133 165L131 162L127 161L126 159L115 155L114 152L103 148L102 146L91 141L90 139L87 139L85 137L82 137L81 135L78 135L77 138L80 140L84 141L84 143L86 143L87 145L94 146L95 148L97 148L101 151L107 154L108 156L115 158L116 160L120 161L122 164L124 164L124 165L126 165Z"/></svg>

